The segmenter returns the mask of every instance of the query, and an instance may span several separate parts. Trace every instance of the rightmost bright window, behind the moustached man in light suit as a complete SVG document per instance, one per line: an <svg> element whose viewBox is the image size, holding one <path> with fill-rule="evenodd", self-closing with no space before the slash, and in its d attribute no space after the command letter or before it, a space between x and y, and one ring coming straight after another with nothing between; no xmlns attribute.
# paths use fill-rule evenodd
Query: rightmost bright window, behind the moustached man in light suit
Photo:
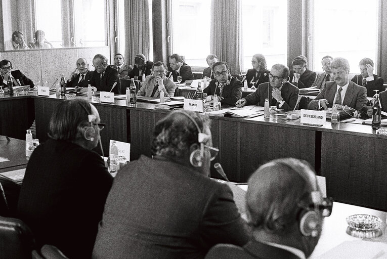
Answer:
<svg viewBox="0 0 387 259"><path fill-rule="evenodd" d="M326 55L348 59L351 73L365 57L376 66L378 0L314 1L312 8L313 70L322 70Z"/></svg>

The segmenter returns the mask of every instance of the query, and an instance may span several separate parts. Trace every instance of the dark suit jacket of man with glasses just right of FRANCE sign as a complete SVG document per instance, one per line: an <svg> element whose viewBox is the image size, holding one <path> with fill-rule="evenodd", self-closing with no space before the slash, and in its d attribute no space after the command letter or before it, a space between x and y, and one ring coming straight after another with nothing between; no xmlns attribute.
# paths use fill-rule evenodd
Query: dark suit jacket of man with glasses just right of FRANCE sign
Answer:
<svg viewBox="0 0 387 259"><path fill-rule="evenodd" d="M217 87L217 82L217 79L211 80L208 87L203 90L203 93L207 95L217 94L219 96L221 90ZM222 97L224 97L221 101L222 104L235 105L236 101L242 98L242 82L236 77L231 76L230 84L225 84Z"/></svg>

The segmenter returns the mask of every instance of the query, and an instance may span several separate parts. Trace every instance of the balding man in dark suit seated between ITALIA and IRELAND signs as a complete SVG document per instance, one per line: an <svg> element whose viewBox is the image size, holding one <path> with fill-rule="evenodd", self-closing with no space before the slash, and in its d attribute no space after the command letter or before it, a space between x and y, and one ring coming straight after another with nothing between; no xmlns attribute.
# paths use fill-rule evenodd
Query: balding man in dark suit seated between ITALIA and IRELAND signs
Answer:
<svg viewBox="0 0 387 259"><path fill-rule="evenodd" d="M79 73L76 73L76 70ZM84 58L76 61L76 69L71 73L70 79L67 80L67 87L73 87L77 92L87 91L88 85L91 84L93 71L89 70L89 63Z"/></svg>

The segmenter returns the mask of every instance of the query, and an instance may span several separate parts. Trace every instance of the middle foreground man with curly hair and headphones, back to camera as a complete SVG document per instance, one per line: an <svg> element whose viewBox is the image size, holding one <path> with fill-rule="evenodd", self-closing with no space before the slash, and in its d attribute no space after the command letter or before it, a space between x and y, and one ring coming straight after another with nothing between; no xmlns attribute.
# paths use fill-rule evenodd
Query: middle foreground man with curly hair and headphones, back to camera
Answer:
<svg viewBox="0 0 387 259"><path fill-rule="evenodd" d="M209 178L209 119L174 111L157 122L152 156L120 169L105 204L93 258L204 258L218 243L245 244L230 187Z"/></svg>

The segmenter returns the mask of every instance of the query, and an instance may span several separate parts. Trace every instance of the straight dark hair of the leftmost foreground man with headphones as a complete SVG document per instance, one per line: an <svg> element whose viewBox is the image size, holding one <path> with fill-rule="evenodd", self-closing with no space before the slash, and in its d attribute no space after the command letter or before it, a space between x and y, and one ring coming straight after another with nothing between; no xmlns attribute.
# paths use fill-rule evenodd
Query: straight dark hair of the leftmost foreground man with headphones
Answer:
<svg viewBox="0 0 387 259"><path fill-rule="evenodd" d="M92 108L88 101L75 98L60 102L50 118L49 136L54 140L74 141L82 136Z"/></svg>

